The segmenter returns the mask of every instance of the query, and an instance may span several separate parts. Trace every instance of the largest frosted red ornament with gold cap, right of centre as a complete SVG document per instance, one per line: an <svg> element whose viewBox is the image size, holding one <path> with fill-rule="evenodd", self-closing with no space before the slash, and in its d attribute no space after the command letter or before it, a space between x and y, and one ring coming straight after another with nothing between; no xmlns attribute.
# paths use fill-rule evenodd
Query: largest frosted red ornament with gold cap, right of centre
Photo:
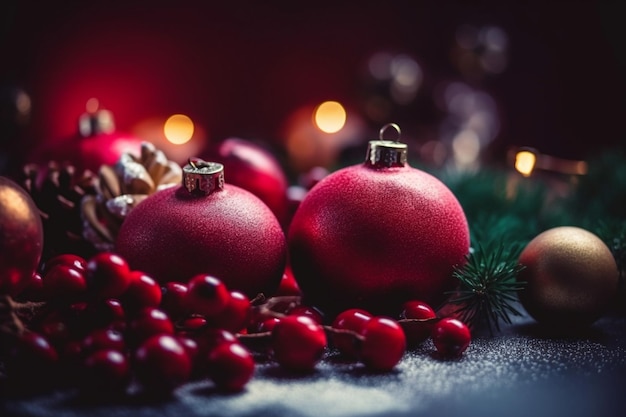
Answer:
<svg viewBox="0 0 626 417"><path fill-rule="evenodd" d="M455 196L407 164L405 144L382 140L385 128L369 143L364 164L309 191L290 225L294 276L307 302L327 312L392 315L410 299L436 304L469 251Z"/></svg>

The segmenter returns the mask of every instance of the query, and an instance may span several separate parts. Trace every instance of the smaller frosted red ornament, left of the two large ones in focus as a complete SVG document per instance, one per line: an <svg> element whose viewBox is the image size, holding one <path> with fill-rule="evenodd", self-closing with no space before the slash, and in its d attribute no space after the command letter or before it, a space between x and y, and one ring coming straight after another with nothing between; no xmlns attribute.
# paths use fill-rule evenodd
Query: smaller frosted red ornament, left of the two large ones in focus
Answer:
<svg viewBox="0 0 626 417"><path fill-rule="evenodd" d="M250 298L273 294L287 252L276 216L250 192L224 184L221 164L190 161L183 177L183 186L156 192L129 213L117 252L161 283L210 274Z"/></svg>

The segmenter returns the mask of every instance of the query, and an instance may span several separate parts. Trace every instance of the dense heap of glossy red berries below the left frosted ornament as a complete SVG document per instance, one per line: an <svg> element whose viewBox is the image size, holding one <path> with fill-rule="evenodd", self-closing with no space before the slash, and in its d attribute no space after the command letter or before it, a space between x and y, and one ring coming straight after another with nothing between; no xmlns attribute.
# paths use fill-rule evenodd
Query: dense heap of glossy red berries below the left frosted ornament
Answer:
<svg viewBox="0 0 626 417"><path fill-rule="evenodd" d="M209 275L161 288L114 253L61 255L20 298L45 304L0 352L18 385L65 379L86 393L164 393L208 377L240 390L254 372L232 333L245 326L250 302Z"/></svg>

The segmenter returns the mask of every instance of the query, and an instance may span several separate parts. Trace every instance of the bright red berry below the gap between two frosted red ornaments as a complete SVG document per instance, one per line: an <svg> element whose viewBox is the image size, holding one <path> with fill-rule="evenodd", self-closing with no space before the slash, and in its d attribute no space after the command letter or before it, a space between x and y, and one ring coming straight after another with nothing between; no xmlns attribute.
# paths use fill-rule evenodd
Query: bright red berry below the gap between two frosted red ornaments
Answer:
<svg viewBox="0 0 626 417"><path fill-rule="evenodd" d="M293 371L313 370L326 345L324 328L310 317L285 316L272 330L274 359Z"/></svg>

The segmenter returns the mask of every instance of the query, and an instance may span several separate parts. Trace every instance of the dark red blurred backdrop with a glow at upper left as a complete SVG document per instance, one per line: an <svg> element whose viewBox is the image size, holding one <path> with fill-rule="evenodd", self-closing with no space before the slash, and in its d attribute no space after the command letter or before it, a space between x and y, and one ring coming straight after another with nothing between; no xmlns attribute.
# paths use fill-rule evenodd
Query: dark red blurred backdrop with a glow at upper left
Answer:
<svg viewBox="0 0 626 417"><path fill-rule="evenodd" d="M182 112L213 140L280 141L299 106L337 99L358 108L359 71L380 50L407 53L425 72L421 96L398 117L436 124L441 115L425 103L429 86L459 76L454 30L493 24L510 44L507 70L480 86L500 105L496 148L584 157L624 138L621 7L545 3L5 0L0 75L31 96L19 134L35 143L75 132L90 97L120 130Z"/></svg>

